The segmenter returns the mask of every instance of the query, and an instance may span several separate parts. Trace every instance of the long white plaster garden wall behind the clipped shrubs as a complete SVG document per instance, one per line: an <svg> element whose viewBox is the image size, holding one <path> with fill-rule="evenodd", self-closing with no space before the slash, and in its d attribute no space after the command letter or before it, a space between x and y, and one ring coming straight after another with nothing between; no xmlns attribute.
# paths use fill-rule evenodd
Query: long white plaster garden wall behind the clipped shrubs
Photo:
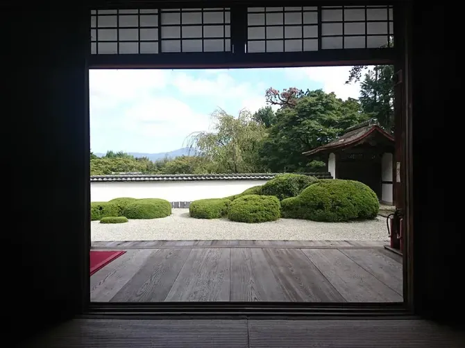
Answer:
<svg viewBox="0 0 465 348"><path fill-rule="evenodd" d="M118 197L162 198L169 202L191 202L204 198L237 195L268 180L205 180L192 182L91 182L90 200L106 202Z"/></svg>

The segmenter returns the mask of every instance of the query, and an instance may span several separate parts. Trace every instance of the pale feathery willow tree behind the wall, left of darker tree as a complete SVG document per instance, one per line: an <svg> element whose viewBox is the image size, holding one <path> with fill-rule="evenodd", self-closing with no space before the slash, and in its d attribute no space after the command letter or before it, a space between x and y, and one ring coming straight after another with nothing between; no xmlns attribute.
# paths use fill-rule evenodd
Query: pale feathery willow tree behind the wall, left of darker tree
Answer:
<svg viewBox="0 0 465 348"><path fill-rule="evenodd" d="M263 171L259 151L267 136L264 125L248 110L237 117L222 109L212 113L210 131L189 135L188 145L209 159L215 173L257 173Z"/></svg>

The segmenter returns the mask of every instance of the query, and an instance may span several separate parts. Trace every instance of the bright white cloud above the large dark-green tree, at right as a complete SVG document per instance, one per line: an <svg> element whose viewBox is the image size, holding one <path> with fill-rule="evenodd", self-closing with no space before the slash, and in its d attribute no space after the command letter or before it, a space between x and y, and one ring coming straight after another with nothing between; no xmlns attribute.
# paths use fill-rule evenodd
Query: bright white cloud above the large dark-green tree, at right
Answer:
<svg viewBox="0 0 465 348"><path fill-rule="evenodd" d="M338 98L358 98L360 96L360 83L346 85L349 71L352 67L305 67L289 69L289 77L296 79L313 80L323 84L326 93L335 92Z"/></svg>

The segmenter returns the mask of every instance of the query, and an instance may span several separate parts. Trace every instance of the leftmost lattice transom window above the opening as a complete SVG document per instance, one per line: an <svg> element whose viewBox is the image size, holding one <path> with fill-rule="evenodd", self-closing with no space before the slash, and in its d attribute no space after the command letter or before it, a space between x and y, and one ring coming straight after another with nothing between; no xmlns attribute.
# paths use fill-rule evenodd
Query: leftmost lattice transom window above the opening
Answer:
<svg viewBox="0 0 465 348"><path fill-rule="evenodd" d="M158 10L92 10L92 54L158 53Z"/></svg>

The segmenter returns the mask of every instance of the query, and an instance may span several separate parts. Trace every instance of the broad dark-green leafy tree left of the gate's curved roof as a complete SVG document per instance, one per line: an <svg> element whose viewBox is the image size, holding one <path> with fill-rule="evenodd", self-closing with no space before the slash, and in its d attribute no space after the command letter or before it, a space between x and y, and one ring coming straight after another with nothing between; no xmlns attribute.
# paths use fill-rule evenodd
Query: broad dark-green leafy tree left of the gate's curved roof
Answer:
<svg viewBox="0 0 465 348"><path fill-rule="evenodd" d="M321 89L299 93L276 112L276 124L260 151L263 163L273 172L321 167L318 162L310 166L302 153L337 139L346 128L368 118L355 99L342 101Z"/></svg>

